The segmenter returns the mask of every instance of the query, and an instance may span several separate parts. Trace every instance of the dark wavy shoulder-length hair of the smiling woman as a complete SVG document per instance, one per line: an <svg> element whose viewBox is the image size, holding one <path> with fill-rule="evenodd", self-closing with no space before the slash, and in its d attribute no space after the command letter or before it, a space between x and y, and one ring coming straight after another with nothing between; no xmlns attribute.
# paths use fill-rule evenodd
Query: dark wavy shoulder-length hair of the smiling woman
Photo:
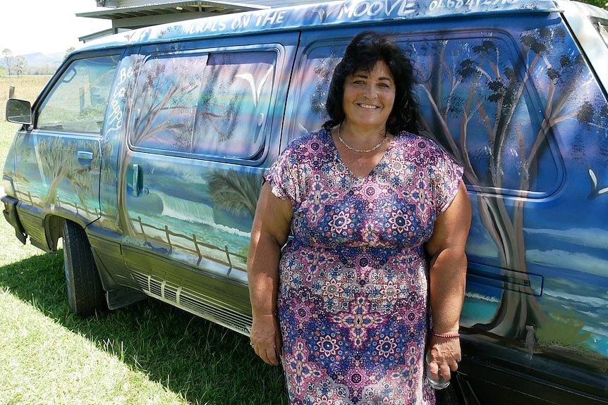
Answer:
<svg viewBox="0 0 608 405"><path fill-rule="evenodd" d="M329 114L329 120L323 124L326 130L341 124L345 118L342 101L346 78L360 70L370 72L377 61L384 61L395 79L395 101L387 120L387 130L391 134L401 131L418 134L419 112L418 100L413 94L413 65L388 34L375 31L364 31L354 37L334 70L325 106Z"/></svg>

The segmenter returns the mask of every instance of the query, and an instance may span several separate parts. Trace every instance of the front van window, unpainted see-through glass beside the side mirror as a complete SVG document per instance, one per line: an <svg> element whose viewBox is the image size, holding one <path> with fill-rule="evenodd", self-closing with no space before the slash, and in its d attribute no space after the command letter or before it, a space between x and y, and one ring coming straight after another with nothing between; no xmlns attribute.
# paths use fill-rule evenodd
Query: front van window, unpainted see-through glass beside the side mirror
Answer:
<svg viewBox="0 0 608 405"><path fill-rule="evenodd" d="M102 132L118 56L71 63L38 109L37 128L65 132Z"/></svg>

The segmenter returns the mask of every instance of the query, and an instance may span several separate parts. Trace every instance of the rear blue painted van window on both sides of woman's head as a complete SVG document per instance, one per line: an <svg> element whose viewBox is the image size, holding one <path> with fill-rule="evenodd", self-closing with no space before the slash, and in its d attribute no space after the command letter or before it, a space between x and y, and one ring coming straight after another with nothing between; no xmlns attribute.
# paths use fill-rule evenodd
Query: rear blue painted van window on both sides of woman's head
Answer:
<svg viewBox="0 0 608 405"><path fill-rule="evenodd" d="M475 173L471 191L546 197L559 187L561 168L535 111L530 85L513 51L499 32L442 37L397 37L415 62L420 112L431 136L447 151L465 151ZM524 39L525 40L525 39ZM531 39L530 39L531 40ZM324 102L332 71L346 44L319 42L303 56L293 133L317 130L327 120ZM308 108L305 108L308 106ZM500 139L497 142L497 139ZM528 175L531 154L542 175ZM499 165L501 179L492 176ZM530 184L527 184L530 182ZM522 188L523 187L523 188Z"/></svg>

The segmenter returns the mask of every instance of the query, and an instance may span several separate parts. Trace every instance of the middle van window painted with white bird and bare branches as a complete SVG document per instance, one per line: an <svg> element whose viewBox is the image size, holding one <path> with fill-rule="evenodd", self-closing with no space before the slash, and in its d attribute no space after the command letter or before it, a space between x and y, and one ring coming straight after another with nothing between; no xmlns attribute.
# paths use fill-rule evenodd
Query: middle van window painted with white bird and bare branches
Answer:
<svg viewBox="0 0 608 405"><path fill-rule="evenodd" d="M135 149L255 159L265 144L276 53L155 55L135 97Z"/></svg>

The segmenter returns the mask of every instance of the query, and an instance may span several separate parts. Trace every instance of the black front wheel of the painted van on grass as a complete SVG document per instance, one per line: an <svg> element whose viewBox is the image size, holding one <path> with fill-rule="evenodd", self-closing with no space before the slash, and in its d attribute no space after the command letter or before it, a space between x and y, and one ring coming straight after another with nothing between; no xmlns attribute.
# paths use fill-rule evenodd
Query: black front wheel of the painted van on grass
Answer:
<svg viewBox="0 0 608 405"><path fill-rule="evenodd" d="M63 221L63 268L66 270L68 304L74 313L90 316L107 309L106 295L87 234L69 220Z"/></svg>

